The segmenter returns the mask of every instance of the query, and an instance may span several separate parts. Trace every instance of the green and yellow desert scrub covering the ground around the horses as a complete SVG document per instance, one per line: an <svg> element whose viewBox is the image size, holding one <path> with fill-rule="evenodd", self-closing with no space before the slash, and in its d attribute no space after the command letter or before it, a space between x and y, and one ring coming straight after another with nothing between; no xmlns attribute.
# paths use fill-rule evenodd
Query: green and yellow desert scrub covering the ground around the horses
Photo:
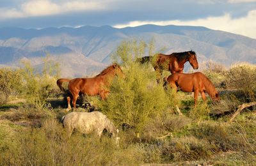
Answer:
<svg viewBox="0 0 256 166"><path fill-rule="evenodd" d="M194 107L193 95L164 89L150 64L134 61L145 54L154 54L153 42L123 41L113 61L123 66L125 78L113 80L106 100L84 96L120 130L119 146L108 133L100 139L79 132L68 137L60 122L67 103L56 86L57 63L46 58L40 71L29 62L18 69L1 68L1 165L253 165L255 106L229 119L239 105L255 102L255 64L205 65L201 72L220 91L221 101L207 97L207 103L200 99Z"/></svg>

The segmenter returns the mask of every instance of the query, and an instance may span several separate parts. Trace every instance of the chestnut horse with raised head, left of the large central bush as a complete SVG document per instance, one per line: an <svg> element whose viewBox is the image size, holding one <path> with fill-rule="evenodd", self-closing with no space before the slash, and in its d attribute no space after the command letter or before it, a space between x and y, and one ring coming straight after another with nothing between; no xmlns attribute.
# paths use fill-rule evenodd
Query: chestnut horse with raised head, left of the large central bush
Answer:
<svg viewBox="0 0 256 166"><path fill-rule="evenodd" d="M65 89L61 86L63 82L69 82L68 90L73 96L73 107L76 109L76 100L79 94L86 94L88 96L100 95L100 98L104 100L109 94L109 86L114 79L115 75L121 75L124 77L120 66L116 63L108 66L101 73L96 75L93 78L76 78L76 79L58 79L57 85L60 87L61 91ZM68 109L71 109L70 106L70 97L68 100Z"/></svg>

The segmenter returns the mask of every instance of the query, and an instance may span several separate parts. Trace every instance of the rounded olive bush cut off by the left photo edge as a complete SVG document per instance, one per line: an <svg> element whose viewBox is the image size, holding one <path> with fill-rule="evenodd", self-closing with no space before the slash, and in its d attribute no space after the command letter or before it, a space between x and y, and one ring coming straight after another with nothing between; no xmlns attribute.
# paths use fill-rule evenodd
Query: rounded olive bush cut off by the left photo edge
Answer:
<svg viewBox="0 0 256 166"><path fill-rule="evenodd" d="M17 94L20 90L20 73L11 68L0 69L0 104L6 102L11 94Z"/></svg>

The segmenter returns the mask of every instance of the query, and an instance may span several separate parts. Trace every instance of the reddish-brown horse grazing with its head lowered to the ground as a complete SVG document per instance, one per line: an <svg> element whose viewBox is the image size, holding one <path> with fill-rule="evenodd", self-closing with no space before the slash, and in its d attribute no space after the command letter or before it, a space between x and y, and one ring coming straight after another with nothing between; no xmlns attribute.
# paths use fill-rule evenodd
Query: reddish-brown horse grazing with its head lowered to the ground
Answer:
<svg viewBox="0 0 256 166"><path fill-rule="evenodd" d="M175 91L177 87L184 92L194 92L194 100L196 100L198 93L201 93L203 100L206 100L205 92L211 96L212 100L220 100L218 91L216 91L211 80L209 80L203 73L173 73L168 78L164 78Z"/></svg>

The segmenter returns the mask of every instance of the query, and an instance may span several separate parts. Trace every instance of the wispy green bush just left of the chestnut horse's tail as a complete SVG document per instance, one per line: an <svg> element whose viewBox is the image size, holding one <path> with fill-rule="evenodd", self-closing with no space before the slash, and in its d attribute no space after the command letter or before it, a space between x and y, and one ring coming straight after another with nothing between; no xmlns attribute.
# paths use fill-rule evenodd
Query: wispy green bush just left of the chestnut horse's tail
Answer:
<svg viewBox="0 0 256 166"><path fill-rule="evenodd" d="M42 108L45 106L47 98L57 88L58 63L54 63L46 57L44 59L44 67L40 72L37 72L29 61L22 61L22 64L23 67L20 68L23 82L22 94L26 96L29 103Z"/></svg>

